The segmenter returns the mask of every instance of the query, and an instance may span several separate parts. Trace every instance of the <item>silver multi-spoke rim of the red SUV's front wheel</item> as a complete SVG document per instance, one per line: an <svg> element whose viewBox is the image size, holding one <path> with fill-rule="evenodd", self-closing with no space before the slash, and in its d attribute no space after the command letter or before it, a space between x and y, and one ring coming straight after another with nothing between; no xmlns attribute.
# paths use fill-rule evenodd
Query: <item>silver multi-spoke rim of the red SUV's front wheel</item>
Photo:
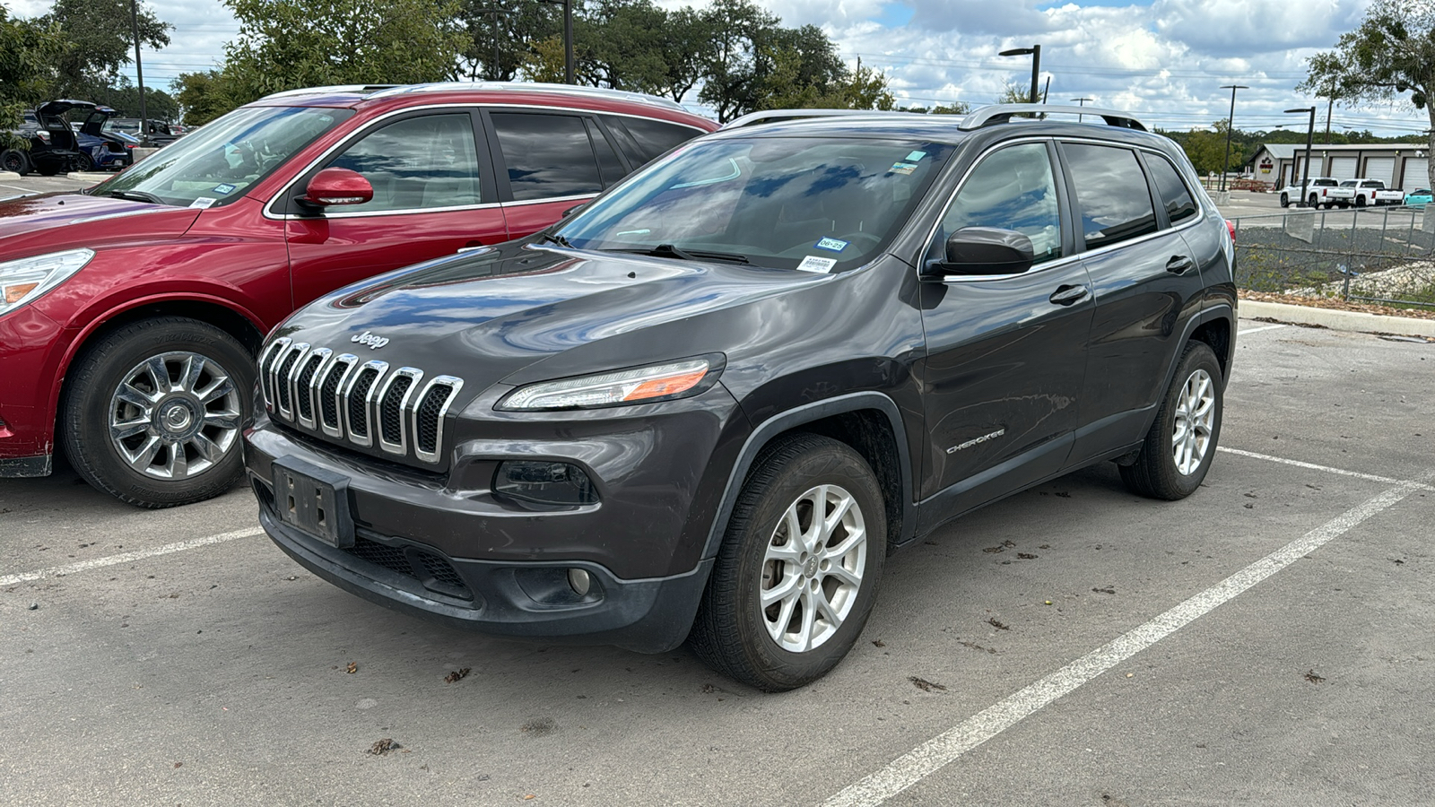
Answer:
<svg viewBox="0 0 1435 807"><path fill-rule="evenodd" d="M240 391L218 363L188 352L135 365L109 399L109 438L131 468L184 480L238 442Z"/></svg>

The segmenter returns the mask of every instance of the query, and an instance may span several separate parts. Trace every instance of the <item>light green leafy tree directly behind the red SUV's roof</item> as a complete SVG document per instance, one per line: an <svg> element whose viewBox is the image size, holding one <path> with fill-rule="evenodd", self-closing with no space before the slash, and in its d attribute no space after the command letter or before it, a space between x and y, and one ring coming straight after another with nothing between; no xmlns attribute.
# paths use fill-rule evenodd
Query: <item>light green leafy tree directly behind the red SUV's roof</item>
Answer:
<svg viewBox="0 0 1435 807"><path fill-rule="evenodd" d="M224 3L240 22L224 49L235 103L306 86L445 80L464 49L449 0Z"/></svg>

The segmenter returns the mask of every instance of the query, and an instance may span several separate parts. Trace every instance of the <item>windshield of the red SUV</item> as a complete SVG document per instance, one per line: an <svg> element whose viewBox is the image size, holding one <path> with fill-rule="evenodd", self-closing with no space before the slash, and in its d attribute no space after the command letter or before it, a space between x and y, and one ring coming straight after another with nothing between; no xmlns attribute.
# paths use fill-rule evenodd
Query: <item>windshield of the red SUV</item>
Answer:
<svg viewBox="0 0 1435 807"><path fill-rule="evenodd" d="M350 115L349 109L309 106L235 109L89 192L181 207L224 205Z"/></svg>

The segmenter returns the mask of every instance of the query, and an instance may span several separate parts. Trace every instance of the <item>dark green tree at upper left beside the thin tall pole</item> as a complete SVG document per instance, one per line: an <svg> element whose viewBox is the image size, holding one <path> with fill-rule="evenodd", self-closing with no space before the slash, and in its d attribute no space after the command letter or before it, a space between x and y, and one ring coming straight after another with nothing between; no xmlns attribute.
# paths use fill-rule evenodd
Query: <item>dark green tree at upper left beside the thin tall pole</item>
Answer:
<svg viewBox="0 0 1435 807"><path fill-rule="evenodd" d="M50 92L57 98L83 96L96 86L110 86L119 69L135 60L129 0L55 0L42 23L59 26L65 52L56 60ZM159 49L169 45L169 23L144 3L138 7L139 42Z"/></svg>

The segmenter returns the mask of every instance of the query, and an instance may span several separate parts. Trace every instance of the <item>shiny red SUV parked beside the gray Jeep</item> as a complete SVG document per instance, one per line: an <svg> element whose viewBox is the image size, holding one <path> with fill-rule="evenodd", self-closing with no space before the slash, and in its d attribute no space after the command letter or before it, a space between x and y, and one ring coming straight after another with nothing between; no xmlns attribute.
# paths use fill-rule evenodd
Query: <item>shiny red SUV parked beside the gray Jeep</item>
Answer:
<svg viewBox="0 0 1435 807"><path fill-rule="evenodd" d="M528 235L716 128L564 85L317 88L83 194L3 201L0 477L49 474L60 442L122 501L218 495L241 472L254 352L296 307Z"/></svg>

